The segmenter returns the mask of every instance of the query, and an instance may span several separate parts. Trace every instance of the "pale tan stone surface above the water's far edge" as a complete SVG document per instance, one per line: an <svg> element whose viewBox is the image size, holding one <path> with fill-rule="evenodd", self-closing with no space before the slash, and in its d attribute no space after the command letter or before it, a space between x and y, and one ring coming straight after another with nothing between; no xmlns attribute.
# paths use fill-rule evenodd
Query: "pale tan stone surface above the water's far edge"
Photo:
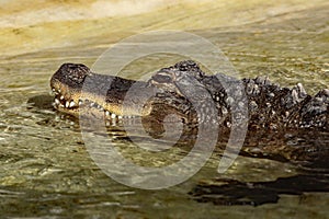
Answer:
<svg viewBox="0 0 329 219"><path fill-rule="evenodd" d="M117 41L150 30L232 27L290 16L326 0L76 0L0 1L0 55ZM129 34L131 33L131 34Z"/></svg>

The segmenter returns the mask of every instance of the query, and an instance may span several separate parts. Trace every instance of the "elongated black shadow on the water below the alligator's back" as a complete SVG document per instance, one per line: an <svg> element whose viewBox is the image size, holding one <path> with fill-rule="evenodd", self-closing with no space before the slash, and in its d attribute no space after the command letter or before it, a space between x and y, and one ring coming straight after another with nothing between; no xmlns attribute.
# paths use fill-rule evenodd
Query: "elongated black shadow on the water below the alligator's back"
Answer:
<svg viewBox="0 0 329 219"><path fill-rule="evenodd" d="M329 192L328 173L300 174L272 182L243 183L235 180L215 180L215 182L224 185L198 184L190 194L198 203L259 206L277 203L280 195Z"/></svg>

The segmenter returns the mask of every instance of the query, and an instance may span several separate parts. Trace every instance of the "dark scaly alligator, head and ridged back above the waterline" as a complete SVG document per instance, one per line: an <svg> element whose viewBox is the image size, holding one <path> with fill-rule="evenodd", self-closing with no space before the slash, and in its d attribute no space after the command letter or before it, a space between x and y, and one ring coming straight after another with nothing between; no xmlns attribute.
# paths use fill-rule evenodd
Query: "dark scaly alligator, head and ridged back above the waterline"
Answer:
<svg viewBox="0 0 329 219"><path fill-rule="evenodd" d="M72 115L78 115L79 106L89 105L112 119L162 118L169 107L170 113L190 124L216 122L229 127L235 118L248 123L249 129L274 130L328 130L329 125L328 89L311 96L300 83L290 89L268 78L207 76L191 60L160 69L147 82L97 74L80 64L64 64L53 76L50 87L55 107ZM128 92L134 93L133 99L127 97ZM232 114L232 110L238 113Z"/></svg>

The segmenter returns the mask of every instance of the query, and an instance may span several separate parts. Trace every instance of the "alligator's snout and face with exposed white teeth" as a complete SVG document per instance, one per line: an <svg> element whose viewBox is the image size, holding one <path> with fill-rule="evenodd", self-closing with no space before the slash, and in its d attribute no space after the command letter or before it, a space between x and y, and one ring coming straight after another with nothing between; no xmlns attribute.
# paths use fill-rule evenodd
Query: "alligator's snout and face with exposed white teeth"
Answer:
<svg viewBox="0 0 329 219"><path fill-rule="evenodd" d="M104 112L110 118L122 118L148 116L155 112L164 116L163 107L168 106L168 111L186 117L190 105L174 87L181 79L164 76L164 71L161 69L144 82L98 74L82 64L64 64L50 79L54 107L73 116L87 108Z"/></svg>

